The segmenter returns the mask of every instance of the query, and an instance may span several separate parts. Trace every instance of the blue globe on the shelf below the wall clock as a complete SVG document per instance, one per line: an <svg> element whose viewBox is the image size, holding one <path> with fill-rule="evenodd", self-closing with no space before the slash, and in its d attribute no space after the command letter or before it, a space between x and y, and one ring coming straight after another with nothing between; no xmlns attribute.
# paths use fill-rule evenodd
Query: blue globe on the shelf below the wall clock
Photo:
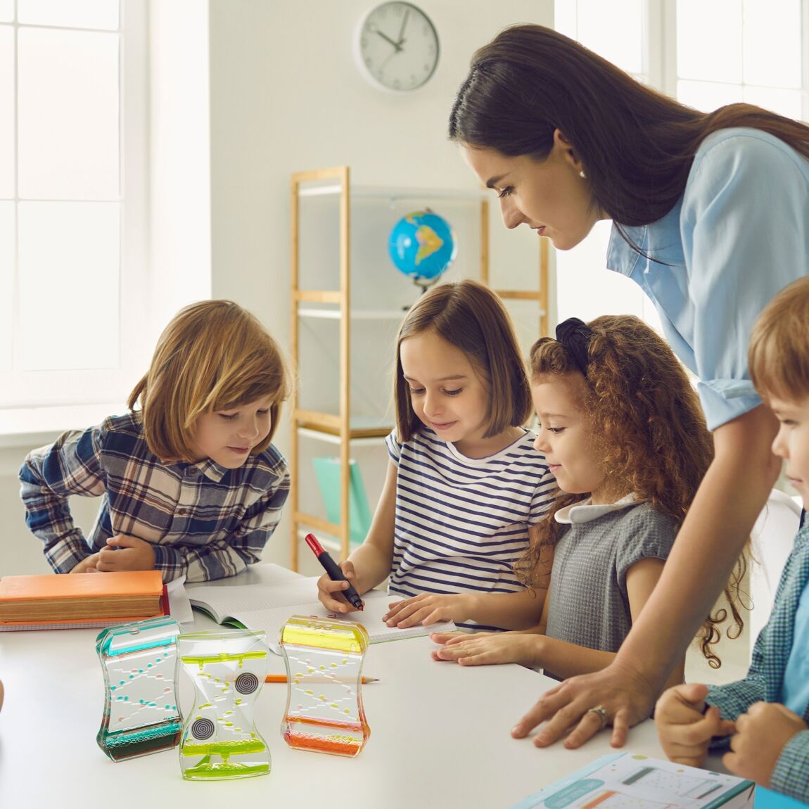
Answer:
<svg viewBox="0 0 809 809"><path fill-rule="evenodd" d="M393 226L388 255L400 273L426 289L455 260L458 242L446 219L429 208L417 210Z"/></svg>

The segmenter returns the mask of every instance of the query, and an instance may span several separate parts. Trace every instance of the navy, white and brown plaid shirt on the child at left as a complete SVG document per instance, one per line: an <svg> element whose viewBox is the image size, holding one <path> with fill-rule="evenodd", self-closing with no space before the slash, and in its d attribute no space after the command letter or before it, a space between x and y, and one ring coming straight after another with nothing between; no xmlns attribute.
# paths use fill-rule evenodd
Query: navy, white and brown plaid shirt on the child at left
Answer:
<svg viewBox="0 0 809 809"><path fill-rule="evenodd" d="M259 561L290 488L286 460L272 445L236 469L210 459L164 464L146 446L137 413L61 434L28 455L19 479L26 523L57 573L108 537L129 534L152 544L165 582L235 576ZM102 498L87 538L70 516L71 494Z"/></svg>

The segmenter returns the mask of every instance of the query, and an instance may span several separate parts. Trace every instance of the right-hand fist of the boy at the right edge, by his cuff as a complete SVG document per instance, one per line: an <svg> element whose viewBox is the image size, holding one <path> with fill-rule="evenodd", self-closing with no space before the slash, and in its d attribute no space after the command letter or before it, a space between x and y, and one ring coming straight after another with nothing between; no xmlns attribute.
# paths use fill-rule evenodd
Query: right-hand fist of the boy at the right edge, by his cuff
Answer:
<svg viewBox="0 0 809 809"><path fill-rule="evenodd" d="M722 756L722 764L742 778L769 788L778 756L796 734L807 730L798 714L777 702L755 702L747 714L736 719L731 752Z"/></svg>

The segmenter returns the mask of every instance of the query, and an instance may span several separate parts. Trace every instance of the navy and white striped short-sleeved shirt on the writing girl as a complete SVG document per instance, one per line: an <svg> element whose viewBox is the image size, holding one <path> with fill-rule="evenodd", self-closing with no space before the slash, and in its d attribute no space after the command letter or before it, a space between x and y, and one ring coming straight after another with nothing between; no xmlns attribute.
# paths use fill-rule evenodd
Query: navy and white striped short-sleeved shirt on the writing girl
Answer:
<svg viewBox="0 0 809 809"><path fill-rule="evenodd" d="M467 458L427 427L404 444L388 435L398 468L392 595L522 589L513 565L557 489L534 438L526 430L494 455Z"/></svg>

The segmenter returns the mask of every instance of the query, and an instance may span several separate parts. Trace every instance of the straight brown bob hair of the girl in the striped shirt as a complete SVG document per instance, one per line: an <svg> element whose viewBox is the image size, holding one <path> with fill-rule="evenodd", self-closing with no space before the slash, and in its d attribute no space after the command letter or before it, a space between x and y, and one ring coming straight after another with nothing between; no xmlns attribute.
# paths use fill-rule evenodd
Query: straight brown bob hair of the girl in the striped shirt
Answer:
<svg viewBox="0 0 809 809"><path fill-rule="evenodd" d="M408 337L433 329L466 354L475 373L489 389L484 438L520 426L531 413L531 388L506 307L492 290L477 281L435 286L410 309L396 339L396 431L400 442L409 441L424 425L410 404L410 386L404 379L401 344Z"/></svg>

